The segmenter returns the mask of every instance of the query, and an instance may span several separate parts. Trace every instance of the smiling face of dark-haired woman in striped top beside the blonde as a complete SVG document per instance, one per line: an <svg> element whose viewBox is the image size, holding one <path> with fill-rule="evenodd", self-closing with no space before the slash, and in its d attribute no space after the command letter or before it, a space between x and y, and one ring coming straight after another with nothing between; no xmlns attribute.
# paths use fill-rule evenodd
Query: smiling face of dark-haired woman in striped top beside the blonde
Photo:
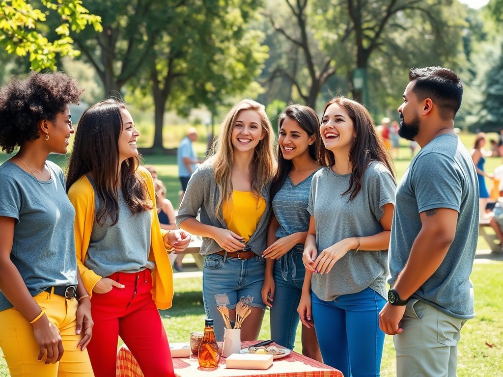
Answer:
<svg viewBox="0 0 503 377"><path fill-rule="evenodd" d="M309 144L314 142L314 136L309 136L297 121L286 117L281 124L278 142L283 158L291 160L309 154Z"/></svg>

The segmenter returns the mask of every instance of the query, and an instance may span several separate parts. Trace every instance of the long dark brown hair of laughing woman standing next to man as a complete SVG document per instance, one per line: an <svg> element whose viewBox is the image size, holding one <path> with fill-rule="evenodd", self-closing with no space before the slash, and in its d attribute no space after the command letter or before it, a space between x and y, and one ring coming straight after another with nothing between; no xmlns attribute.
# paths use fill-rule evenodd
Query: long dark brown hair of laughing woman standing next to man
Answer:
<svg viewBox="0 0 503 377"><path fill-rule="evenodd" d="M353 165L353 170L351 171L348 190L343 193L343 196L350 195L348 201L353 201L362 189L363 174L370 163L373 161L383 163L395 176L393 159L383 141L377 135L374 121L363 105L350 98L339 96L326 103L323 115L328 106L332 104L337 104L346 110L353 121L356 133L355 142L349 151L349 160ZM328 161L330 166L336 162L331 151L328 153Z"/></svg>

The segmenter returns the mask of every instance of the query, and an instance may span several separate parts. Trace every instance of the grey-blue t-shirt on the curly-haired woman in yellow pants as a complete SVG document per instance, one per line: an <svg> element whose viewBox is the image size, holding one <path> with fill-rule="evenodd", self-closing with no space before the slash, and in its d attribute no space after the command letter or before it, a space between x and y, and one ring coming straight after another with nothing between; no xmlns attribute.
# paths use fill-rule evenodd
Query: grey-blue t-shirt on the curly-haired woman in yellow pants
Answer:
<svg viewBox="0 0 503 377"><path fill-rule="evenodd" d="M10 161L0 166L0 216L16 219L11 260L32 296L77 284L75 210L63 171L53 162L46 165L51 178L45 181ZM0 292L0 311L12 306Z"/></svg>

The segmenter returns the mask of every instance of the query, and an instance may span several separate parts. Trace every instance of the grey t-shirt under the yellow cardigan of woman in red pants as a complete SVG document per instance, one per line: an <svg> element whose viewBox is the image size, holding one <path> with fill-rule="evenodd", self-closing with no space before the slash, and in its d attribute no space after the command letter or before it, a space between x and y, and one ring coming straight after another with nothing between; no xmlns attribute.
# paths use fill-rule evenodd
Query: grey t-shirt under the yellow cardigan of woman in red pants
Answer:
<svg viewBox="0 0 503 377"><path fill-rule="evenodd" d="M95 189L95 216L100 208L93 178L88 179ZM151 212L143 211L132 214L126 203L122 190L117 190L119 199L119 220L115 225L110 218L103 226L95 219L88 253L86 267L100 276L110 276L115 272L138 272L145 268L153 268L148 261L150 250Z"/></svg>

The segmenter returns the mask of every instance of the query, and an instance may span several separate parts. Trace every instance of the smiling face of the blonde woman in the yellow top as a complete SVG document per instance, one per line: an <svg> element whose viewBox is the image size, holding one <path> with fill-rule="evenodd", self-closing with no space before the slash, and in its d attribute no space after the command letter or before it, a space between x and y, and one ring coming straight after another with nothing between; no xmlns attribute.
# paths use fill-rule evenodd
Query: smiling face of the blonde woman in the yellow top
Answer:
<svg viewBox="0 0 503 377"><path fill-rule="evenodd" d="M259 113L255 110L240 111L231 132L234 152L254 151L265 135Z"/></svg>

